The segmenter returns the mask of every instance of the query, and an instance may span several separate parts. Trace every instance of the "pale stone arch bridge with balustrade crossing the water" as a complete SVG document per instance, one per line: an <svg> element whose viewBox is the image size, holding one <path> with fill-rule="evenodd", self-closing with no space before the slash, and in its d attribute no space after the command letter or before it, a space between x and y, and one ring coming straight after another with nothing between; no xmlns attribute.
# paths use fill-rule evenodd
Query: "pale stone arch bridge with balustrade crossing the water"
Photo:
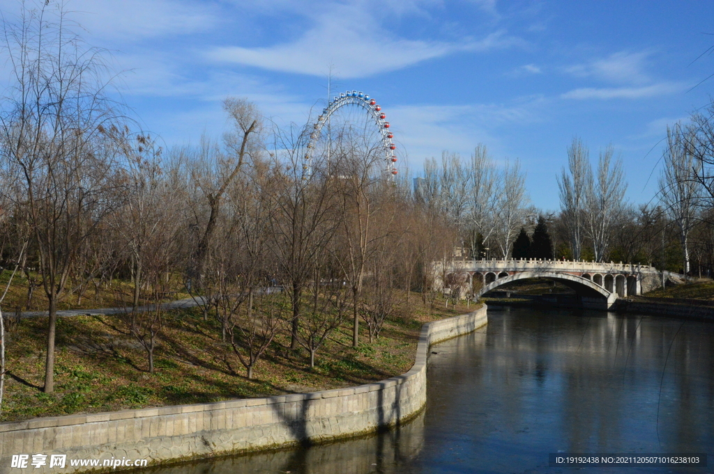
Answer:
<svg viewBox="0 0 714 474"><path fill-rule="evenodd" d="M435 264L436 287L479 298L520 279L555 280L575 290L583 306L609 309L618 298L660 286L659 272L639 264L570 260L466 260Z"/></svg>

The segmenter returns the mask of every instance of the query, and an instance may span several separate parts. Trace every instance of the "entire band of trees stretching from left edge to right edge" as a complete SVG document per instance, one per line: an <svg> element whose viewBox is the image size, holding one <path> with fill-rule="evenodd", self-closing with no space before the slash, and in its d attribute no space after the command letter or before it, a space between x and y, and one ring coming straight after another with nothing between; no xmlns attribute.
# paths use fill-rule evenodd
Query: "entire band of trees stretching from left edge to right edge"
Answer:
<svg viewBox="0 0 714 474"><path fill-rule="evenodd" d="M470 160L427 160L412 189L385 179L366 130L337 130L306 166L312 130L271 126L243 99L223 102L221 140L166 152L111 101L103 52L55 8L5 24L14 86L0 112L1 265L26 277L28 304L46 295L46 392L57 305L116 277L133 284L124 321L150 371L164 315L136 309L181 284L250 377L284 326L311 364L346 321L354 346L361 325L376 338L398 295L426 299L431 263L455 255L714 264L714 110L670 130L660 205L628 205L612 148L593 171L575 139L558 177L561 211L545 215L529 205L518 161L498 168L483 145Z"/></svg>

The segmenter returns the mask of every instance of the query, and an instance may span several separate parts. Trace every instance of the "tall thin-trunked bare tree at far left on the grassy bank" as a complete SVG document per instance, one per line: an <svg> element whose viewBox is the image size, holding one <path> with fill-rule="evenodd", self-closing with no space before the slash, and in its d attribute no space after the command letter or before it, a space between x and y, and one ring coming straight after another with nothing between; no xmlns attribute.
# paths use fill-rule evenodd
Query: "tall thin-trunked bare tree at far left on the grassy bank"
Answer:
<svg viewBox="0 0 714 474"><path fill-rule="evenodd" d="M116 117L104 95L101 51L70 28L63 6L24 8L4 23L14 86L0 118L3 168L21 185L49 300L44 391L54 391L57 303L76 257L104 219L112 167L101 128Z"/></svg>

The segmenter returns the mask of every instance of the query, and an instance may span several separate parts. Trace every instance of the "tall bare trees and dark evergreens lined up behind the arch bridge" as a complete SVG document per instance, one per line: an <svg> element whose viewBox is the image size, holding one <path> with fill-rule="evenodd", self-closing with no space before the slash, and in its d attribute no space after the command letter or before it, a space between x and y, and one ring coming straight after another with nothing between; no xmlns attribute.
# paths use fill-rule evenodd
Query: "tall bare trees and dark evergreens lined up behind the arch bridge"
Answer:
<svg viewBox="0 0 714 474"><path fill-rule="evenodd" d="M517 163L499 171L483 145L468 161L449 152L441 163L427 160L416 197L454 225L463 258L613 260L708 275L714 268L713 115L714 106L668 130L660 191L648 205L625 200L623 165L612 147L593 166L578 138L557 176L558 213L529 206Z"/></svg>

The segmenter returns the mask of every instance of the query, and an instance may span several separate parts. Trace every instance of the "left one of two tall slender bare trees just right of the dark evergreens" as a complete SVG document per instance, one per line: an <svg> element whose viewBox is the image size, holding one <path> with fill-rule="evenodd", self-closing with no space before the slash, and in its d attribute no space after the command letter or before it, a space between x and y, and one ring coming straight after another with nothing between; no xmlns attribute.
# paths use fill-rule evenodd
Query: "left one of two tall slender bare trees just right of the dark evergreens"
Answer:
<svg viewBox="0 0 714 474"><path fill-rule="evenodd" d="M568 147L568 171L563 168L558 177L560 210L563 212L563 223L568 230L573 260L579 260L582 254L585 204L588 199L588 189L592 187L593 182L588 155L588 148L583 145L583 141L580 138L573 138L573 142Z"/></svg>

